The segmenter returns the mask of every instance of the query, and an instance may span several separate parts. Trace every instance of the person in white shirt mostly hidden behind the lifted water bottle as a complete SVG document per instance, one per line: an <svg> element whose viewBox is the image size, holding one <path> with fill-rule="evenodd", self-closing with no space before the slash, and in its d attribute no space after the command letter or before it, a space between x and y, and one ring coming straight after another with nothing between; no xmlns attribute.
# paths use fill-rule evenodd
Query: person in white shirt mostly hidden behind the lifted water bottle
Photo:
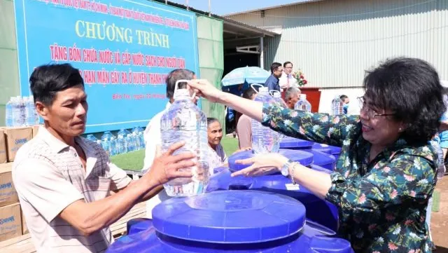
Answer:
<svg viewBox="0 0 448 253"><path fill-rule="evenodd" d="M155 114L155 116L151 118L151 121L149 121L144 132L146 149L145 149L144 167L141 170L143 174L146 174L146 172L151 170L151 165L153 165L156 153L159 153L162 148L160 119L162 118L163 114L165 114L165 111L167 111L167 109L169 109L171 104L174 102L174 88L176 87L176 81L191 80L195 78L196 78L195 72L190 71L188 69L174 69L168 74L166 83L167 83L167 98L169 99L169 102L167 103L165 110L160 111L160 113ZM186 83L179 83L179 86L181 86L179 88L184 88L182 86L186 86ZM193 102L197 103L197 99L195 98ZM146 201L146 216L148 218L153 217L152 211L155 205L158 205L159 203L167 199L169 199L169 196L167 195L165 190L162 190L160 191L160 193L158 193L157 196Z"/></svg>

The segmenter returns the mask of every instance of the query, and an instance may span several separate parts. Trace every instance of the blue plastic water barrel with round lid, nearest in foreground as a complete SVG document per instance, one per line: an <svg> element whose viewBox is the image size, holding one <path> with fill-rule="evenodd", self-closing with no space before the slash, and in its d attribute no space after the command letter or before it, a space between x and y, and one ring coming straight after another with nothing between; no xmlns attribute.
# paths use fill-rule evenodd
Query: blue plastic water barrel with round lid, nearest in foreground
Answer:
<svg viewBox="0 0 448 253"><path fill-rule="evenodd" d="M305 221L304 206L262 191L216 191L157 205L108 253L351 253L346 240ZM134 228L135 227L135 228Z"/></svg>

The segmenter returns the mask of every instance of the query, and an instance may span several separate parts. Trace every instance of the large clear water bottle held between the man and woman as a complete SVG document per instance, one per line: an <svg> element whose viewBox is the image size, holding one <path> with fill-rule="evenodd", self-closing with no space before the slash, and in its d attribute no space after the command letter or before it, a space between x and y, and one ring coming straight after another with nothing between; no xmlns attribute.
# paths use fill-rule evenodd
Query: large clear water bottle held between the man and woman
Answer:
<svg viewBox="0 0 448 253"><path fill-rule="evenodd" d="M160 120L162 134L162 152L166 152L169 146L180 141L186 142L185 146L174 154L192 152L197 154L197 166L186 168L193 172L193 179L173 179L164 184L168 196L183 197L195 196L204 193L209 184L209 163L207 161L207 116L192 102L190 92L186 89L178 89L179 83L187 80L176 81L174 89L174 103L163 114ZM193 94L195 97L195 94Z"/></svg>

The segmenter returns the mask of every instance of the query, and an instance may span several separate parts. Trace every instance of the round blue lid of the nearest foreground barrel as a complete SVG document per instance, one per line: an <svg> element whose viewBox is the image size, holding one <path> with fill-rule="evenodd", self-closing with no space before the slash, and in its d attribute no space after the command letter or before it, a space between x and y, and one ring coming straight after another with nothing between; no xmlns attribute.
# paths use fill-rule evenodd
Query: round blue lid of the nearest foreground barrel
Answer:
<svg viewBox="0 0 448 253"><path fill-rule="evenodd" d="M262 191L214 191L165 200L153 209L164 235L214 243L256 243L299 232L305 207L288 196Z"/></svg>

